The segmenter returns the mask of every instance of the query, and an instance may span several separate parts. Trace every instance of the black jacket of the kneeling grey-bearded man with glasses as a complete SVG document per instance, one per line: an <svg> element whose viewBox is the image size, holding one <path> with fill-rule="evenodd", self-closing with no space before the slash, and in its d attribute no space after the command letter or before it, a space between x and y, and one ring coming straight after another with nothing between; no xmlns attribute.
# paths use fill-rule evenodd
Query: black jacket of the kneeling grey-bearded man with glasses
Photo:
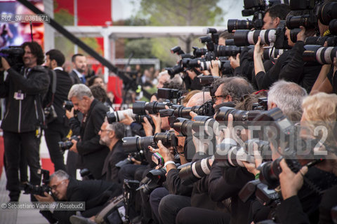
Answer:
<svg viewBox="0 0 337 224"><path fill-rule="evenodd" d="M122 141L117 141L112 148L112 151L107 154L102 170L102 179L105 181L114 181L115 183L118 183L119 168L116 167L116 164L117 162L127 158L122 144Z"/></svg>

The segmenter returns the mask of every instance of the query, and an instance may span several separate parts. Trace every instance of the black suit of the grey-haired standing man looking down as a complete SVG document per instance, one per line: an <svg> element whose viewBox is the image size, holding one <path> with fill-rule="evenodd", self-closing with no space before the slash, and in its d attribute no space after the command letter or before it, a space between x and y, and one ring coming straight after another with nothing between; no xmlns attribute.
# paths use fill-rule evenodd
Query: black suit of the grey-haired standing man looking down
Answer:
<svg viewBox="0 0 337 224"><path fill-rule="evenodd" d="M81 124L81 140L77 142L79 159L83 159L84 167L88 168L95 179L100 179L105 158L109 153L107 146L101 145L98 132L109 109L97 99L93 99L86 118ZM70 127L76 130L80 123L77 118L70 118Z"/></svg>

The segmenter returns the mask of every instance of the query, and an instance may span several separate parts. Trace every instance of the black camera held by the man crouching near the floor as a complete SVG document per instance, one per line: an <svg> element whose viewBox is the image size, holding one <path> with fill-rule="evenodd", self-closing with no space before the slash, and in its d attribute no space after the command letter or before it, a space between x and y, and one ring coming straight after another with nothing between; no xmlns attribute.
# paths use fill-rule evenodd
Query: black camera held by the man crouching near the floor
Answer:
<svg viewBox="0 0 337 224"><path fill-rule="evenodd" d="M43 197L46 197L46 195L44 195L44 193L50 193L51 192L51 188L48 186L49 183L49 171L46 169L39 169L38 170L38 174L41 175L41 179L42 179L42 184L41 186L33 186L30 183L25 183L25 187L24 187L24 194L28 195L40 195Z"/></svg>

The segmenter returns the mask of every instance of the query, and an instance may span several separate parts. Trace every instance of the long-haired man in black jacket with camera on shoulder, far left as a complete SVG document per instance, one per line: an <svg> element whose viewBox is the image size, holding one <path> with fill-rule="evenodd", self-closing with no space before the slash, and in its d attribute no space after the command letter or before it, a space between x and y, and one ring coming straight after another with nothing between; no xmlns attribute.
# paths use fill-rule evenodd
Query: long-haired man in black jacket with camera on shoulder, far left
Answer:
<svg viewBox="0 0 337 224"><path fill-rule="evenodd" d="M1 57L0 69L0 97L7 99L6 115L1 128L4 130L6 189L9 190L11 202L18 202L20 197L20 152L24 154L29 165L30 182L33 185L40 183L40 176L37 174L40 169L39 144L41 128L45 125L42 100L50 83L46 69L40 66L44 62L41 46L36 42L25 42L21 48L24 50L24 66L16 67L15 70L14 67L19 63L10 65ZM6 80L5 72L8 73Z"/></svg>

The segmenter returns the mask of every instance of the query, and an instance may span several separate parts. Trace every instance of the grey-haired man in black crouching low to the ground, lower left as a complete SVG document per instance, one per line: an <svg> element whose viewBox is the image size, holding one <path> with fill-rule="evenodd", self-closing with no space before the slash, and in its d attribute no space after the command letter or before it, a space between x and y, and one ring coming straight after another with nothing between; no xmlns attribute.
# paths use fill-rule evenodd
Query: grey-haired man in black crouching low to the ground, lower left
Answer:
<svg viewBox="0 0 337 224"><path fill-rule="evenodd" d="M81 216L91 218L105 207L105 203L121 194L117 183L106 181L77 181L63 170L58 170L49 182L52 195L44 193L44 196L34 195L39 202L85 202L85 211ZM55 198L55 200L54 200ZM74 217L77 211L53 211L53 217L59 223L73 223L81 217Z"/></svg>

